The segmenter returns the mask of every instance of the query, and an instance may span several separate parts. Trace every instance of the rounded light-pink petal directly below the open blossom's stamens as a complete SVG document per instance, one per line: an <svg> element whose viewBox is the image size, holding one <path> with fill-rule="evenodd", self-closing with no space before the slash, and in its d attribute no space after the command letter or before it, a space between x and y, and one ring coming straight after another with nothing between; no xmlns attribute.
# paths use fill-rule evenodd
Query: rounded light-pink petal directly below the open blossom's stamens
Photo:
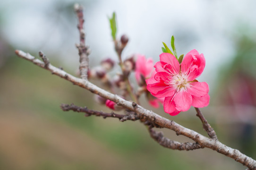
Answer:
<svg viewBox="0 0 256 170"><path fill-rule="evenodd" d="M192 97L186 90L179 91L173 98L176 109L180 111L187 111L192 103Z"/></svg>

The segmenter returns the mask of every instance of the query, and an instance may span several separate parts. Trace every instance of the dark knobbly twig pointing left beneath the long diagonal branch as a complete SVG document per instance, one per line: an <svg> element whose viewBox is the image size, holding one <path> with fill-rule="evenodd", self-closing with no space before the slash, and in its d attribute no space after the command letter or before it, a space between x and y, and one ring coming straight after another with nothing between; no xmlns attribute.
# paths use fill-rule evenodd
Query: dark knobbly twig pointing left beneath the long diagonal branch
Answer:
<svg viewBox="0 0 256 170"><path fill-rule="evenodd" d="M135 113L135 112L128 112L127 115L122 115L122 114L116 114L113 111L111 113L105 113L103 111L96 111L96 110L90 110L87 107L79 107L72 104L61 104L60 108L63 111L69 111L69 110L73 110L76 112L85 112L85 116L91 116L91 115L95 115L95 116L102 116L104 119L106 118L118 118L120 121L126 121L126 120L138 120L140 119L139 116Z"/></svg>

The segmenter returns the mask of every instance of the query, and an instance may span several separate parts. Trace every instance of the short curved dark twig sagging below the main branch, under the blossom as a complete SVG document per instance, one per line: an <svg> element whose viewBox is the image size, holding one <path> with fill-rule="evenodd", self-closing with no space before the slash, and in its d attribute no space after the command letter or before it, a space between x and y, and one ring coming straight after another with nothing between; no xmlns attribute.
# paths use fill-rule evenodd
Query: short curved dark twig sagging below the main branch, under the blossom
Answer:
<svg viewBox="0 0 256 170"><path fill-rule="evenodd" d="M202 146L200 146L200 144L198 143L180 143L174 140L171 140L167 137L163 136L162 132L156 132L154 131L153 128L149 128L148 129L150 136L156 141L158 142L160 145L162 145L163 147L169 148L169 149L173 149L173 150L194 150L194 149L201 149L204 148Z"/></svg>

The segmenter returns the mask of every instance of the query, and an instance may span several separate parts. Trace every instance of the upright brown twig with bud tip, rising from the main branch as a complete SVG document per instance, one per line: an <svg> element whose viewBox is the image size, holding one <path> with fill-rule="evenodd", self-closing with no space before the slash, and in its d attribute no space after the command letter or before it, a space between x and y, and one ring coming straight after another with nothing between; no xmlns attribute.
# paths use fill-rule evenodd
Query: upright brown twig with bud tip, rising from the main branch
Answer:
<svg viewBox="0 0 256 170"><path fill-rule="evenodd" d="M80 44L77 44L77 49L79 52L79 70L80 70L80 76L82 79L87 80L88 78L88 69L89 69L89 54L90 54L90 50L88 46L85 46L85 30L84 30L84 14L83 14L83 7L75 4L74 6L75 11L77 13L77 17L78 17L78 25L77 28L79 30L79 34L80 34Z"/></svg>

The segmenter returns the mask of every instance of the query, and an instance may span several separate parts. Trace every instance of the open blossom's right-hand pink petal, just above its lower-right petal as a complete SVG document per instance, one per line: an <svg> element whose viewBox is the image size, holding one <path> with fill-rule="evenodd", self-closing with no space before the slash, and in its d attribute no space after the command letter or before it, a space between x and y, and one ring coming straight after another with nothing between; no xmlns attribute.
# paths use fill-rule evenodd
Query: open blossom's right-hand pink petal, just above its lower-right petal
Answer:
<svg viewBox="0 0 256 170"><path fill-rule="evenodd" d="M188 93L196 97L205 96L209 92L209 86L206 82L192 82L188 87Z"/></svg>

